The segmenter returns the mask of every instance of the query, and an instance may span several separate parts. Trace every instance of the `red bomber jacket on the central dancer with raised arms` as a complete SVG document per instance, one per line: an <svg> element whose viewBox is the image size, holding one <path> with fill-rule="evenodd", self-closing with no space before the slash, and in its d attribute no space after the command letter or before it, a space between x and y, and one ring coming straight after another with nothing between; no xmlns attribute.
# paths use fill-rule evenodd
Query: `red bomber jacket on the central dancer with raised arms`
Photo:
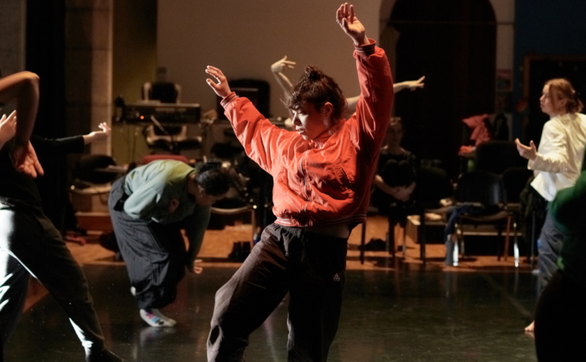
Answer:
<svg viewBox="0 0 586 362"><path fill-rule="evenodd" d="M394 96L389 60L370 41L354 50L361 90L356 113L314 140L274 126L234 92L222 99L246 154L273 176L276 224L325 226L366 220Z"/></svg>

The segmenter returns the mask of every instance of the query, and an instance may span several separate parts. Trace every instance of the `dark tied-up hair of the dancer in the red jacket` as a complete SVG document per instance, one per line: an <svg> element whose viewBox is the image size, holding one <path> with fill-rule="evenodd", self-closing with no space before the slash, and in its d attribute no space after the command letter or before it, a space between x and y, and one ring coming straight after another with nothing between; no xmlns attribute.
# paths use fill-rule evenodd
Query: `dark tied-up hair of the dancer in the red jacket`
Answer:
<svg viewBox="0 0 586 362"><path fill-rule="evenodd" d="M329 75L325 75L318 67L305 67L299 82L289 91L283 104L288 109L299 109L305 104L313 104L316 111L321 111L322 106L330 102L333 106L330 119L325 121L325 126L330 128L337 124L347 108L346 99L336 81Z"/></svg>

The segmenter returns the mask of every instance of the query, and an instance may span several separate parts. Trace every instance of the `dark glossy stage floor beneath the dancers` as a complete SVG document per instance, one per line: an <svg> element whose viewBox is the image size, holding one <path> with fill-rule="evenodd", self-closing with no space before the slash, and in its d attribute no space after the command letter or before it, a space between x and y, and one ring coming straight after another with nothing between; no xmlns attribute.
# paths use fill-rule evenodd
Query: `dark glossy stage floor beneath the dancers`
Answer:
<svg viewBox="0 0 586 362"><path fill-rule="evenodd" d="M470 273L349 270L332 362L536 361L523 334L536 302L536 280L514 269ZM214 294L234 268L207 266L187 275L165 309L173 328L146 327L129 292L124 265L85 265L107 345L128 361L206 361ZM251 335L246 361L286 361L286 300ZM82 361L82 348L53 298L26 312L4 361Z"/></svg>

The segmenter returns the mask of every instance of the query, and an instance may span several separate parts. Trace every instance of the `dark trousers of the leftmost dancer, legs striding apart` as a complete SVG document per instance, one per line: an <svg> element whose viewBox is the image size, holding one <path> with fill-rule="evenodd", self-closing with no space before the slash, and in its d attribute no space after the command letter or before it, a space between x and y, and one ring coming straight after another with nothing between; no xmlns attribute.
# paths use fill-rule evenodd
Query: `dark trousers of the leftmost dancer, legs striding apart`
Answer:
<svg viewBox="0 0 586 362"><path fill-rule="evenodd" d="M21 317L28 275L65 310L86 354L104 348L85 275L59 231L39 209L0 202L0 326L6 344Z"/></svg>

